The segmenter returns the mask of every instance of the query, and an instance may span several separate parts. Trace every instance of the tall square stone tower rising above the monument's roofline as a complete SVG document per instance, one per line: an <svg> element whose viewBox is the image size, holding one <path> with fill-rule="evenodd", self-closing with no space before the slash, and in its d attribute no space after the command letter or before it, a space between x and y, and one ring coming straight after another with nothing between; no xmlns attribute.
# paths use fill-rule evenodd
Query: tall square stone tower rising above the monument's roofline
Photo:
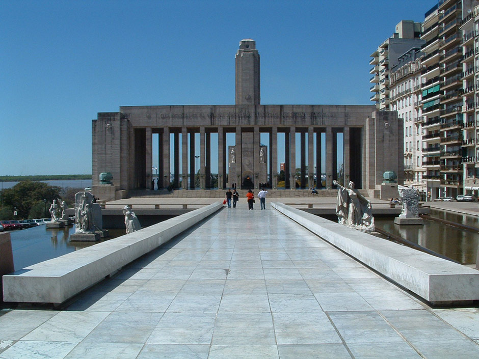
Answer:
<svg viewBox="0 0 479 359"><path fill-rule="evenodd" d="M259 105L259 53L256 41L240 41L240 48L235 56L236 80L235 103L237 105Z"/></svg>

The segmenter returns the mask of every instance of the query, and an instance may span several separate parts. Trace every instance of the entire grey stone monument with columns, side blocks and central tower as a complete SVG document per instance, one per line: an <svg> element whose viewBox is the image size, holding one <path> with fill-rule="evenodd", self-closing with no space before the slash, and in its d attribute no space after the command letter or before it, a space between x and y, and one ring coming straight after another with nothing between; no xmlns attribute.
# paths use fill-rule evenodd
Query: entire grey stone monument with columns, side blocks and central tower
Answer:
<svg viewBox="0 0 479 359"><path fill-rule="evenodd" d="M121 106L119 112L98 113L92 121L93 194L109 200L150 188L156 169L159 188L171 182L173 187L195 188L196 172L200 188L211 188L213 147L218 148L220 190L232 184L237 189L259 188L263 183L276 188L278 151L284 151L285 187L290 189L296 187L297 168L304 188L321 188L321 181L314 184L314 179L325 175L326 187L333 180L353 180L356 188L377 190L384 171L404 172L403 124L396 112L379 112L371 105L261 105L254 40L240 42L235 63L234 105ZM269 143L261 144L261 133L268 134ZM342 148L338 148L338 133ZM157 150L153 136L158 139ZM227 146L227 136L234 137L233 146ZM284 146L278 146L279 137ZM338 153L343 156L341 171ZM102 172L112 173L113 184L100 184Z"/></svg>

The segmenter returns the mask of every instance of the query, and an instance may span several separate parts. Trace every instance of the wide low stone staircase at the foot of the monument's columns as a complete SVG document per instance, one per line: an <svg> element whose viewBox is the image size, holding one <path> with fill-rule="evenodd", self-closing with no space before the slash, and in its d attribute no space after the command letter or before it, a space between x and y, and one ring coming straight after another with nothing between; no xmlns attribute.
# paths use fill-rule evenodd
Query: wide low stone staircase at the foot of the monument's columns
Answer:
<svg viewBox="0 0 479 359"><path fill-rule="evenodd" d="M247 190L239 189L240 196L245 196ZM259 192L254 190L255 194ZM364 197L369 197L366 189L360 189L360 194ZM176 189L168 192L166 189L153 190L130 190L130 197L143 198L224 198L226 189ZM310 189L268 189L268 197L270 198L335 198L338 195L337 189L318 189L317 195L311 195Z"/></svg>

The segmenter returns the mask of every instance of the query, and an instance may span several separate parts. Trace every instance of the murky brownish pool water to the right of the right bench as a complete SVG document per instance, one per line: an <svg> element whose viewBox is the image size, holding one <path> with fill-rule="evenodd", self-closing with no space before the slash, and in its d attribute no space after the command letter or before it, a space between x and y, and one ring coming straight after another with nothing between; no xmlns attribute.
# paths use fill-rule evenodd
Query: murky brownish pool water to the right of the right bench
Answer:
<svg viewBox="0 0 479 359"><path fill-rule="evenodd" d="M479 228L479 218L431 209L431 216ZM399 226L394 218L377 217L375 226L462 264L476 263L479 233L424 219L423 226Z"/></svg>

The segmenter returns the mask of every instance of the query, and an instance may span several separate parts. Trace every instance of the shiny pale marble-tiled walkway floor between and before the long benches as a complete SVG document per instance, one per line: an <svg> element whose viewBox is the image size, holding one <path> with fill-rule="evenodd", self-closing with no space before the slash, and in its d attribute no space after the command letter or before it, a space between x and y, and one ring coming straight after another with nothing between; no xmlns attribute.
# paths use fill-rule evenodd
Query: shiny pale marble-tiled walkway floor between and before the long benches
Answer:
<svg viewBox="0 0 479 359"><path fill-rule="evenodd" d="M477 358L432 309L284 217L223 209L62 310L4 310L0 358Z"/></svg>

